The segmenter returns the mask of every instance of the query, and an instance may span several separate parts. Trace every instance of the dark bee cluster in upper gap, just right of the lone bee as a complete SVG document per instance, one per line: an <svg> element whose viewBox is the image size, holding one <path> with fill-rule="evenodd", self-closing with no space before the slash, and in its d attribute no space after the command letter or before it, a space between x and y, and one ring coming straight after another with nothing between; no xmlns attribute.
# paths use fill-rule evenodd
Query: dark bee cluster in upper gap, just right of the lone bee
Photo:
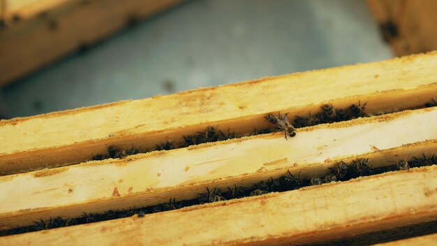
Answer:
<svg viewBox="0 0 437 246"><path fill-rule="evenodd" d="M357 117L365 117L364 109L366 104L361 105L361 102L353 104L348 108L334 108L332 104L324 104L321 106L320 112L315 115L309 113L308 117L296 116L294 126L305 127L305 126L315 126L316 124L342 122L346 120L352 120Z"/></svg>

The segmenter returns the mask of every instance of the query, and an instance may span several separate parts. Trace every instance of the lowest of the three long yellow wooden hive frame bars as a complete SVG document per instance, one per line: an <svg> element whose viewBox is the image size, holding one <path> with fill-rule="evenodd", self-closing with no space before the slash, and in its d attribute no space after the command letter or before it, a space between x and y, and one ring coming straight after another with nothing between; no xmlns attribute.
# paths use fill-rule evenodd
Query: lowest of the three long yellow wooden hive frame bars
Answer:
<svg viewBox="0 0 437 246"><path fill-rule="evenodd" d="M0 238L1 245L292 245L437 219L437 166Z"/></svg>

